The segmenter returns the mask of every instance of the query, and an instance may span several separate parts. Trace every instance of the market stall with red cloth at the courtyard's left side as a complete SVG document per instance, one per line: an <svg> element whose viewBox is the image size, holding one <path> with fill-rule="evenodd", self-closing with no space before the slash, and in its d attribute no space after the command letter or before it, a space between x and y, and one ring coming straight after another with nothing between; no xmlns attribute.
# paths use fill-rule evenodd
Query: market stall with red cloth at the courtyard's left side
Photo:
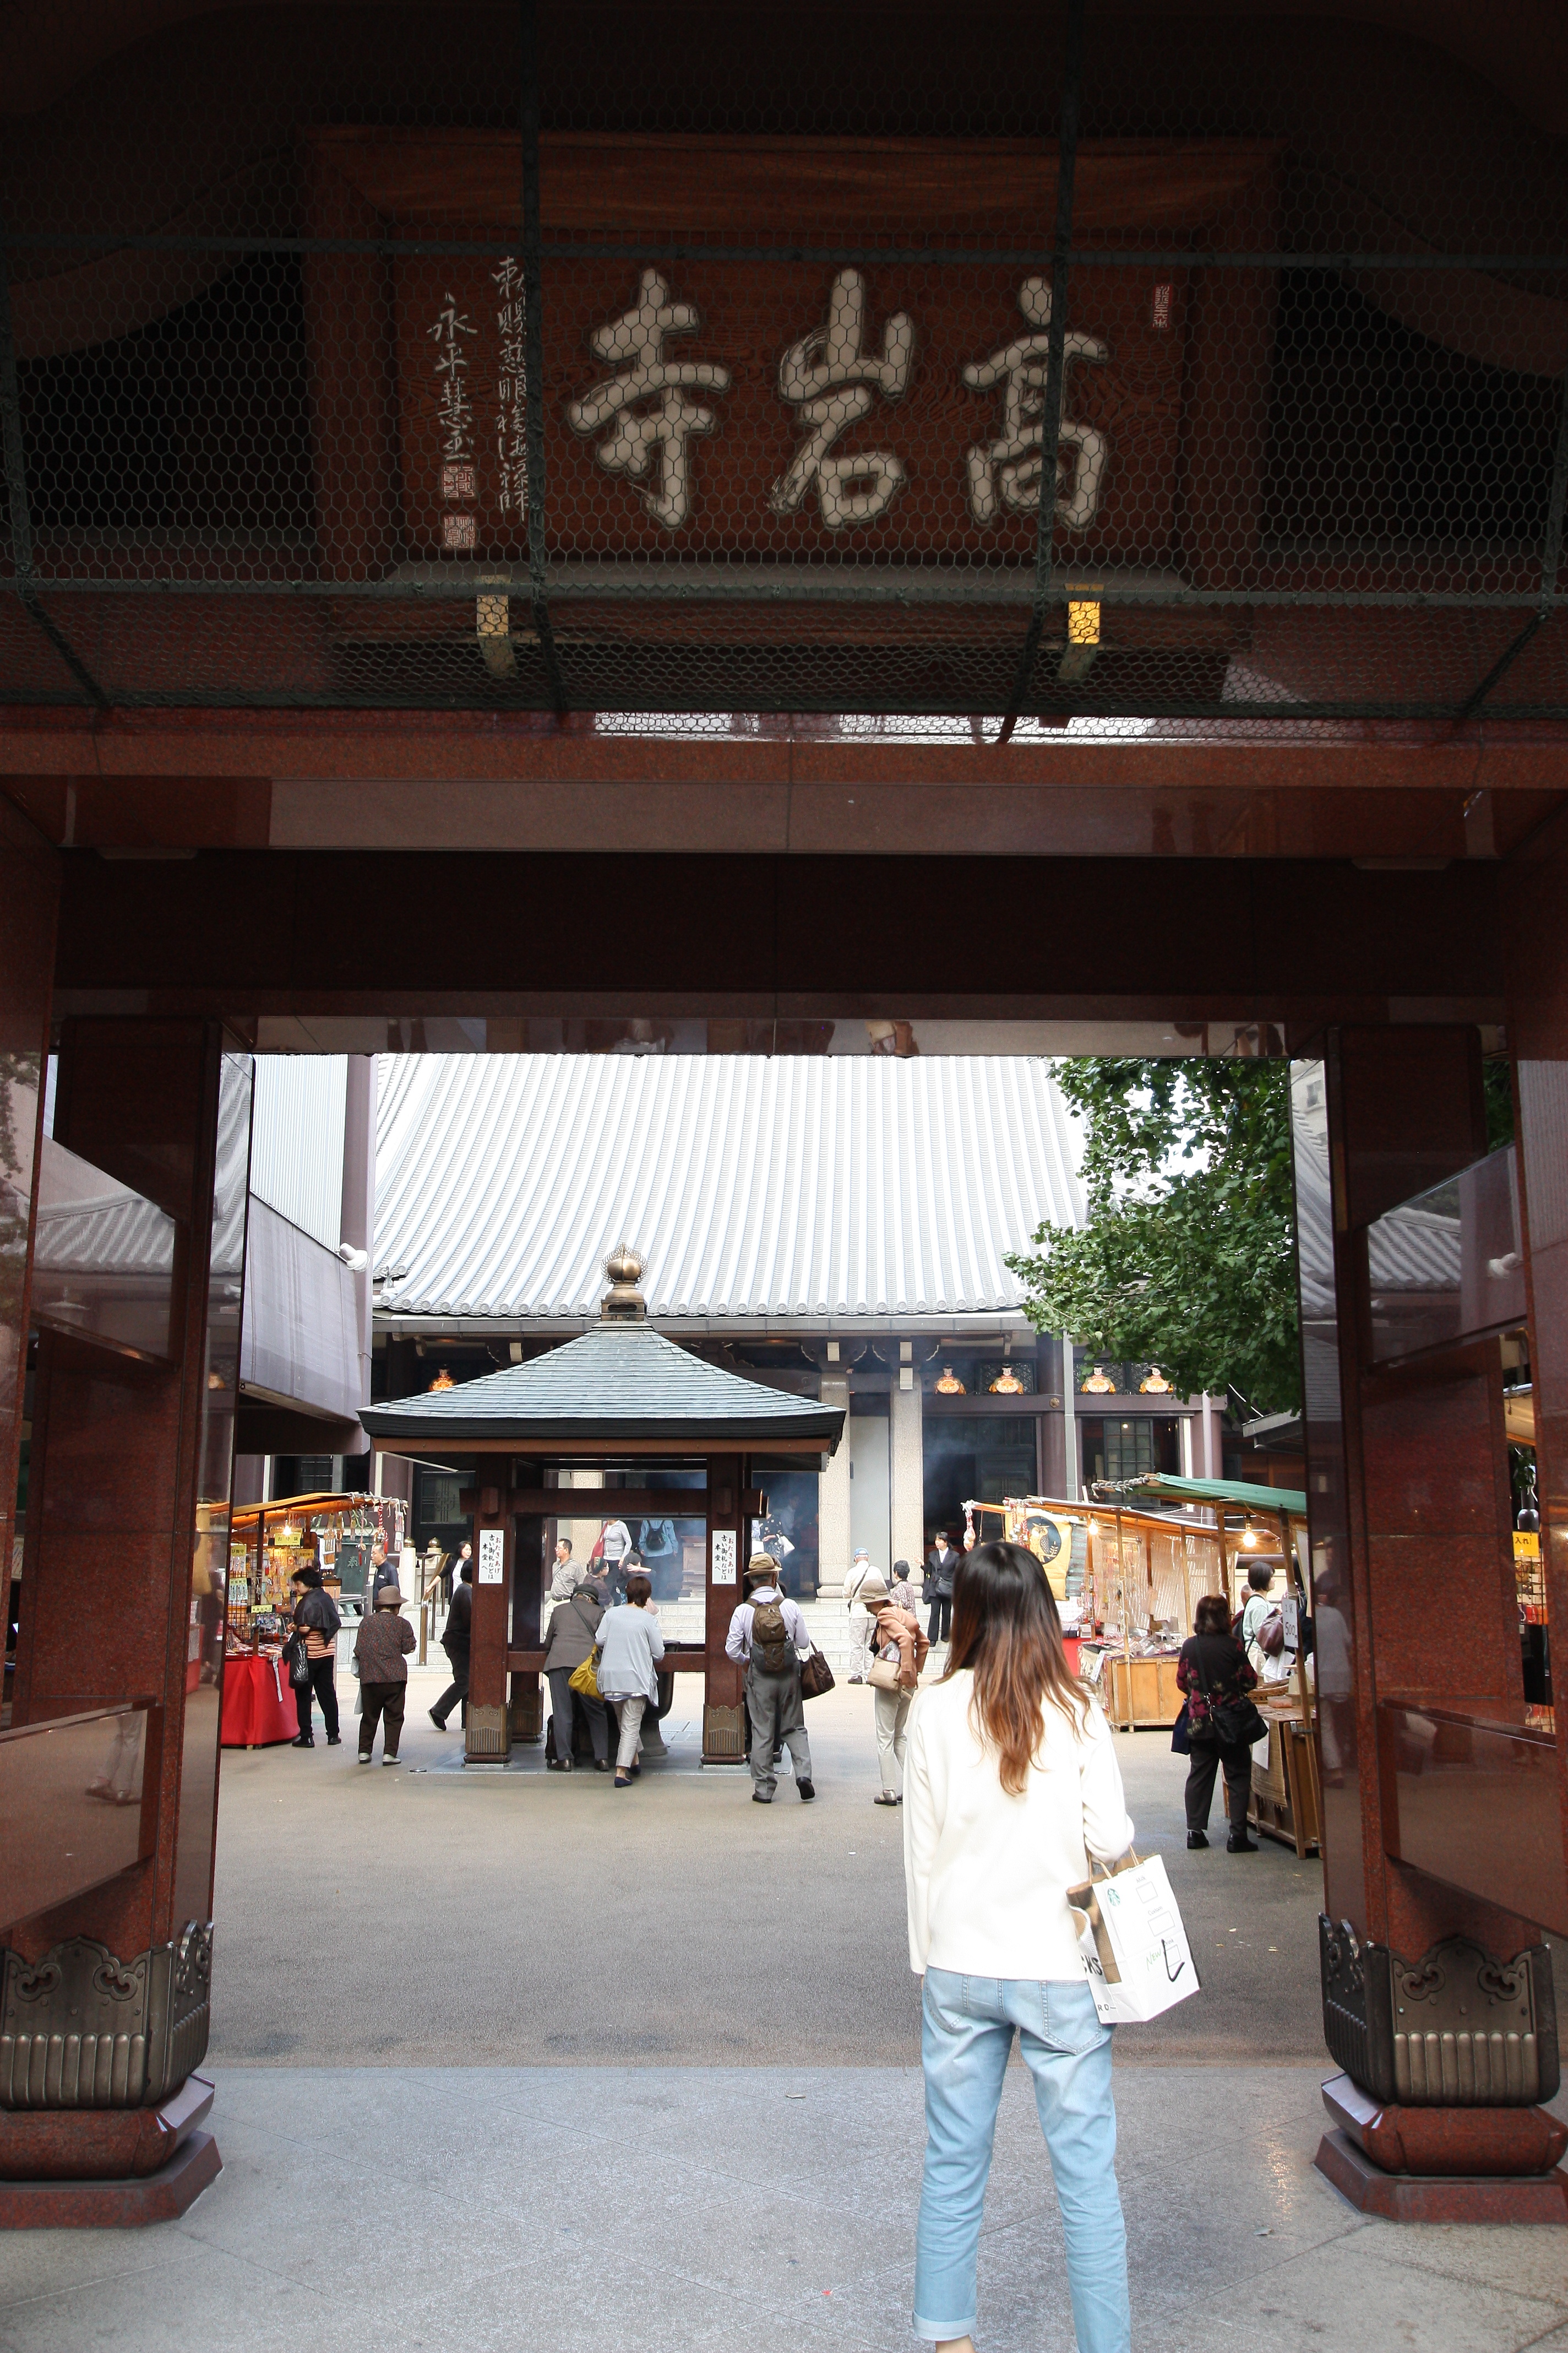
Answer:
<svg viewBox="0 0 1568 2353"><path fill-rule="evenodd" d="M292 1494L235 1511L228 1546L223 1628L226 1748L270 1748L299 1732L282 1645L303 1562L348 1614L362 1602L376 1539L388 1560L402 1553L407 1504L374 1494Z"/></svg>

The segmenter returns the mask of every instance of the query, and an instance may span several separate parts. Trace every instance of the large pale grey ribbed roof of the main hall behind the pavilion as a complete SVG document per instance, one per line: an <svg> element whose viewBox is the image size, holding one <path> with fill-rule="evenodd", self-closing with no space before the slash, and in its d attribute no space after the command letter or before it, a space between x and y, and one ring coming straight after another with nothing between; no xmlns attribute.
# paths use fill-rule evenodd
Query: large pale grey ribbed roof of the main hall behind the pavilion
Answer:
<svg viewBox="0 0 1568 2353"><path fill-rule="evenodd" d="M1001 1264L1084 1224L1051 1064L745 1054L402 1054L376 1092L378 1299L588 1318L630 1242L665 1329L1016 1315Z"/></svg>

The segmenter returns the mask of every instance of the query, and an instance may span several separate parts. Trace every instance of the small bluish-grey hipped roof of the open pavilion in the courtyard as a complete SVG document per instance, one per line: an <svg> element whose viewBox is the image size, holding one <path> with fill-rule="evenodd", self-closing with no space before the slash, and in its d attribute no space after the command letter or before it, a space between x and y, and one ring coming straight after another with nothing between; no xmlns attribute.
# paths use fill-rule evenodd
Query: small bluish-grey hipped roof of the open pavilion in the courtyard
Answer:
<svg viewBox="0 0 1568 2353"><path fill-rule="evenodd" d="M449 1447L465 1438L717 1438L748 1445L820 1438L832 1449L844 1409L705 1365L651 1325L609 1322L480 1381L367 1405L360 1421L371 1438Z"/></svg>

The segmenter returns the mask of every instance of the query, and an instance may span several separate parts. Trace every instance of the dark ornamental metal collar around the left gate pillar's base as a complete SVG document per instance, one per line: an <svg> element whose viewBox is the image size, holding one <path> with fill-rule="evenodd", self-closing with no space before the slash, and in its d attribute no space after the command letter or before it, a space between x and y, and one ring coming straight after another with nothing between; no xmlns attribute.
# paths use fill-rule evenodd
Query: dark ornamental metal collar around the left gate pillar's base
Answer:
<svg viewBox="0 0 1568 2353"><path fill-rule="evenodd" d="M212 1920L120 1960L71 1937L0 1951L0 2108L155 2108L207 2057Z"/></svg>

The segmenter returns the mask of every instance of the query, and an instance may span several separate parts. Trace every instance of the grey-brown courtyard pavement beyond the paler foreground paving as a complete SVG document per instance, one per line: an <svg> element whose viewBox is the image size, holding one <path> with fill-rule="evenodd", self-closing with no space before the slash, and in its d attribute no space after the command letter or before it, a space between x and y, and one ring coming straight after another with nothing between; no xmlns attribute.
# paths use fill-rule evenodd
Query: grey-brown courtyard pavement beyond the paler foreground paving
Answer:
<svg viewBox="0 0 1568 2353"><path fill-rule="evenodd" d="M545 1774L538 1748L463 1772L425 1718L440 1678L414 1685L397 1772L355 1765L353 1722L341 1748L223 1758L214 2061L726 2066L778 2057L780 2009L818 2064L917 2054L903 1817L872 1805L870 1692L811 1704L820 1795L802 1805L785 1779L764 1812L745 1772L696 1769L679 1711L696 1678L677 1680L670 1762L621 1793ZM1157 1732L1119 1751L1204 1974L1201 1998L1128 2038L1128 2064L1133 2040L1140 2061L1316 2064L1319 1866L1272 1842L1187 1854L1182 1760Z"/></svg>

